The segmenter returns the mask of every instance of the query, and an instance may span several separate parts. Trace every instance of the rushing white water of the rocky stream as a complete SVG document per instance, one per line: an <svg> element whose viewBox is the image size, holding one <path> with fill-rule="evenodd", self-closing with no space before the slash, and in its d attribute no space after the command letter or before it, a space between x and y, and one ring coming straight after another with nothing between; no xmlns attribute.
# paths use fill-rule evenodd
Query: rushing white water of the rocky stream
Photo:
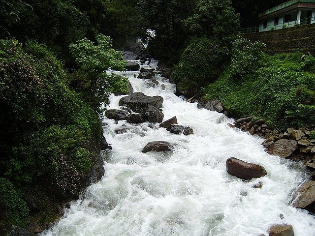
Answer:
<svg viewBox="0 0 315 236"><path fill-rule="evenodd" d="M230 128L232 119L186 103L165 78L157 77L162 89L134 78L139 71L120 74L135 91L162 96L164 120L176 116L194 134L175 135L149 122L116 134L116 128L131 124L104 118L104 136L113 147L104 177L43 235L257 236L268 235L273 224L290 224L295 236L315 236L314 215L290 205L292 192L305 180L298 164L266 153L261 138ZM119 108L121 97L110 96L108 108ZM150 141L177 146L168 153L142 153ZM229 175L225 161L232 156L264 166L267 176L242 181ZM259 181L262 188L253 188Z"/></svg>

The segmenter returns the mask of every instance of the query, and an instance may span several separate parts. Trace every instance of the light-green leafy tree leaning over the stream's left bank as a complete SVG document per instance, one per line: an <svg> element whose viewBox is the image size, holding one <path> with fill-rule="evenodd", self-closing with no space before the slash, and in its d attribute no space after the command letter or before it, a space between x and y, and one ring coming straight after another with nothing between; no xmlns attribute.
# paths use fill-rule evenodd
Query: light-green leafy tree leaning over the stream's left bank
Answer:
<svg viewBox="0 0 315 236"><path fill-rule="evenodd" d="M119 83L115 76L109 75L108 69L124 70L126 62L122 53L113 49L110 37L103 34L96 36L96 45L91 40L84 38L70 45L70 50L78 64L80 71L77 73L79 81L75 81L91 101L95 110L101 102L107 101L108 95ZM122 83L122 86L126 86Z"/></svg>

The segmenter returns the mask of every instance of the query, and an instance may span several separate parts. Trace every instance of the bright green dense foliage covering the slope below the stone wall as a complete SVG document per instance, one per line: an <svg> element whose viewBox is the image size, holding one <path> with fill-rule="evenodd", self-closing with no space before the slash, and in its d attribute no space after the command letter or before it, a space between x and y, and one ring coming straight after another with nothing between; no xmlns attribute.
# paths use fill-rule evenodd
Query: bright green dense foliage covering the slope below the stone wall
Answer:
<svg viewBox="0 0 315 236"><path fill-rule="evenodd" d="M301 61L301 53L264 55L260 67L242 78L227 67L219 79L203 89L217 98L230 115L255 115L285 129L315 124L315 74L310 73L314 58ZM312 62L309 62L312 61ZM308 66L306 66L308 64Z"/></svg>

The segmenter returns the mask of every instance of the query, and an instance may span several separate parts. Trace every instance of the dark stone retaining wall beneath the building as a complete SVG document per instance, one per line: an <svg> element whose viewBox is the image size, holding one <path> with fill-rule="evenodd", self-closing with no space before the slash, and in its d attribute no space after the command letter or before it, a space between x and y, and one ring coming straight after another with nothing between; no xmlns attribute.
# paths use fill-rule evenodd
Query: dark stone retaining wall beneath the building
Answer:
<svg viewBox="0 0 315 236"><path fill-rule="evenodd" d="M251 41L264 42L268 54L300 51L304 54L310 52L315 55L315 24L245 33L244 36Z"/></svg>

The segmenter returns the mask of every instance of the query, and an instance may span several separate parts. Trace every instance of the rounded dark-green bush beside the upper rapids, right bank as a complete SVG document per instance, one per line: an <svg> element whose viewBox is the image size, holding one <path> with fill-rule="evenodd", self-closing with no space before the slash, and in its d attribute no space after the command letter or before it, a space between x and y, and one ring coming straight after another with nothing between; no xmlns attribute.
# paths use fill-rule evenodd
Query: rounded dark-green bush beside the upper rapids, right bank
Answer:
<svg viewBox="0 0 315 236"><path fill-rule="evenodd" d="M206 37L192 38L171 77L180 90L194 95L198 88L219 76L226 55L227 48L221 43Z"/></svg>

